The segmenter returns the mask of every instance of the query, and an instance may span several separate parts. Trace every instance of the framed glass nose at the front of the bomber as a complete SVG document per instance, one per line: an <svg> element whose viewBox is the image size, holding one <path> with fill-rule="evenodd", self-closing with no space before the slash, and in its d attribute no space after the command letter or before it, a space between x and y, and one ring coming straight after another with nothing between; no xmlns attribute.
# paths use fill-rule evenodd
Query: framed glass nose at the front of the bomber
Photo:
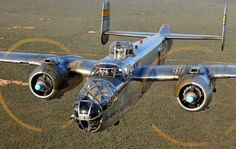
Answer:
<svg viewBox="0 0 236 149"><path fill-rule="evenodd" d="M101 128L103 113L116 88L107 80L89 79L75 101L72 118L85 132L96 132Z"/></svg>

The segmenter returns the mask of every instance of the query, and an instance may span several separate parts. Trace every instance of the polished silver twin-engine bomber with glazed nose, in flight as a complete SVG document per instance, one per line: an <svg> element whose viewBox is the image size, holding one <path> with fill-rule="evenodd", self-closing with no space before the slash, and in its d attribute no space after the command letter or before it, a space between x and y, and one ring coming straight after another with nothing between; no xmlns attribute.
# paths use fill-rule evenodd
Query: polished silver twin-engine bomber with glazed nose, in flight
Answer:
<svg viewBox="0 0 236 149"><path fill-rule="evenodd" d="M222 36L174 34L168 25L158 33L110 31L110 2L103 1L101 42L109 35L141 37L137 42L116 41L110 54L101 60L88 60L77 55L0 52L0 61L37 66L29 77L29 88L41 99L61 97L87 78L75 99L71 116L85 132L105 130L117 125L124 114L142 97L154 81L176 80L174 95L182 108L200 111L208 106L220 78L235 78L235 65L161 66L174 39L222 40L226 27L224 9ZM151 66L158 60L158 64Z"/></svg>

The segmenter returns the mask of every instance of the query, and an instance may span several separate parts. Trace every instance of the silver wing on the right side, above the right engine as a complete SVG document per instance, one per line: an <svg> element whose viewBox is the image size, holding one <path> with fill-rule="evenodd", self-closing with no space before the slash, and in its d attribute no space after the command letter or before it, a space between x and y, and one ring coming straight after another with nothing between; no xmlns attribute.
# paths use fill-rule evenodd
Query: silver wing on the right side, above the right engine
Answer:
<svg viewBox="0 0 236 149"><path fill-rule="evenodd" d="M172 65L145 66L133 72L133 78L139 80L179 80L181 77L205 75L210 79L236 78L236 65Z"/></svg>

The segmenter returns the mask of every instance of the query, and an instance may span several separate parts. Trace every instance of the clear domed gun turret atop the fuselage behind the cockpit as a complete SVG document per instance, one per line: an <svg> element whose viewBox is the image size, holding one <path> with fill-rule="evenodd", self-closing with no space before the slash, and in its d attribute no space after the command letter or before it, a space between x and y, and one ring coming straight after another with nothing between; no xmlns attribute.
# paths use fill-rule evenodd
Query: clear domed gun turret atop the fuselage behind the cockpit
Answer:
<svg viewBox="0 0 236 149"><path fill-rule="evenodd" d="M128 41L115 41L111 43L109 49L114 59L125 59L135 55L133 43Z"/></svg>

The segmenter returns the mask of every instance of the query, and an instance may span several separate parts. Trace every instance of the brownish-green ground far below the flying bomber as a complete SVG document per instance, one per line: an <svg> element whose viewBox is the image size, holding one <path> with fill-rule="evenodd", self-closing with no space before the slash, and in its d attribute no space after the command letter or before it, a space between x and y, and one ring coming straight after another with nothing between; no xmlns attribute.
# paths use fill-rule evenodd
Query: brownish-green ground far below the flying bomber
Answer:
<svg viewBox="0 0 236 149"><path fill-rule="evenodd" d="M101 5L101 0L1 0L0 47L44 37L62 42L70 53L102 58L109 45L99 41ZM221 34L224 0L111 0L111 6L114 30L153 32L167 23L177 33ZM166 64L236 64L234 0L229 1L228 16L224 52L220 42L176 41L173 49L188 51L171 55ZM110 41L114 40L135 39L112 37ZM46 43L30 43L18 51L64 52ZM34 69L12 64L0 64L0 68L0 79L23 82ZM81 86L49 102L34 97L27 86L1 86L8 108L33 130L19 125L0 105L0 148L235 148L236 80L217 81L209 109L198 113L180 108L174 86L175 82L154 83L119 126L95 134L68 124Z"/></svg>

